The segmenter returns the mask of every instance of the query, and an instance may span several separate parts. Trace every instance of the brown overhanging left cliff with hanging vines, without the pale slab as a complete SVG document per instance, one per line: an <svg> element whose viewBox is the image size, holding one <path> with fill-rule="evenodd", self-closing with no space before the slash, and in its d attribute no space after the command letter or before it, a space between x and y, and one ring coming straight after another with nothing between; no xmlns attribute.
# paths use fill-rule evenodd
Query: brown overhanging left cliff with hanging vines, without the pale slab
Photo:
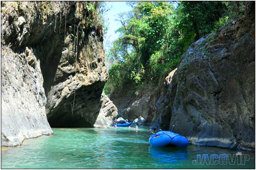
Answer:
<svg viewBox="0 0 256 170"><path fill-rule="evenodd" d="M32 67L35 57L40 60L46 114L52 127L93 127L102 106L101 94L108 73L102 28L77 27L82 18L75 12L76 7L82 9L81 14L85 13L83 6L87 2L21 3L27 6L22 26L16 24L23 21L13 9L16 2L5 3L10 16L2 16L2 44L10 43L13 51L31 46L26 49L26 57ZM97 6L96 3L92 5ZM31 50L34 55L30 55Z"/></svg>

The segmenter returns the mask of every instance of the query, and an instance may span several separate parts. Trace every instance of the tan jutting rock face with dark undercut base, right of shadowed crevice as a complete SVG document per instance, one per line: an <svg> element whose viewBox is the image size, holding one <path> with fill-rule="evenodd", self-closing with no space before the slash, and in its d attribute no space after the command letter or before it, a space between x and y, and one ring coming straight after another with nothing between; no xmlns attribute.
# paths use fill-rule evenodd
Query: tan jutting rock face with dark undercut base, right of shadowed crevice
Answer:
<svg viewBox="0 0 256 170"><path fill-rule="evenodd" d="M74 56L68 54L68 47L61 53L53 82L49 89L45 87L48 92L46 112L51 126L92 127L95 124L108 77L102 42L98 42L95 34L92 31L87 43L80 45L77 62L70 63L70 57ZM70 35L66 43L72 44Z"/></svg>

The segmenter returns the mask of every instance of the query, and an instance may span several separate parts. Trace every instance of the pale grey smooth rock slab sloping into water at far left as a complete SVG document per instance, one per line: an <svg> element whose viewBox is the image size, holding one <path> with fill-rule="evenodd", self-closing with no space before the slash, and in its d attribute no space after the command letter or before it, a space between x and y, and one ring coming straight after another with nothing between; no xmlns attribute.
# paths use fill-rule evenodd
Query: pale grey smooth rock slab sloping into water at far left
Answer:
<svg viewBox="0 0 256 170"><path fill-rule="evenodd" d="M39 60L33 52L1 48L1 146L21 145L24 139L52 134L46 118L46 96Z"/></svg>

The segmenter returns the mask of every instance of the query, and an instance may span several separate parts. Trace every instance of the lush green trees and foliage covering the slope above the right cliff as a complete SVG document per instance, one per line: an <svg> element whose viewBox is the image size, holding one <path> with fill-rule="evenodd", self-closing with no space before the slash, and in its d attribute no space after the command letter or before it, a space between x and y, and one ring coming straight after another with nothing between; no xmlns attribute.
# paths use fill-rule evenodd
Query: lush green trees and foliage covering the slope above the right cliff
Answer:
<svg viewBox="0 0 256 170"><path fill-rule="evenodd" d="M154 89L194 41L241 17L243 1L127 2L119 38L107 54L106 94Z"/></svg>

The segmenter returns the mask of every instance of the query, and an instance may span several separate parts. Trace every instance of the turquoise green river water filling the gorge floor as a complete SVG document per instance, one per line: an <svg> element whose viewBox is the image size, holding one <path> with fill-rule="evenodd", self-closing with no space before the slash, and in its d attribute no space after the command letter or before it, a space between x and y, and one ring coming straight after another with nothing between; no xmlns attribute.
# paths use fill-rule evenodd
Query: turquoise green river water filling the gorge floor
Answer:
<svg viewBox="0 0 256 170"><path fill-rule="evenodd" d="M215 147L153 148L148 126L53 128L53 136L26 140L22 146L2 148L3 169L255 169L255 152L242 152L245 165L195 165L197 154L235 154ZM175 131L175 130L174 130ZM217 159L218 160L218 159ZM225 162L224 162L225 163Z"/></svg>

